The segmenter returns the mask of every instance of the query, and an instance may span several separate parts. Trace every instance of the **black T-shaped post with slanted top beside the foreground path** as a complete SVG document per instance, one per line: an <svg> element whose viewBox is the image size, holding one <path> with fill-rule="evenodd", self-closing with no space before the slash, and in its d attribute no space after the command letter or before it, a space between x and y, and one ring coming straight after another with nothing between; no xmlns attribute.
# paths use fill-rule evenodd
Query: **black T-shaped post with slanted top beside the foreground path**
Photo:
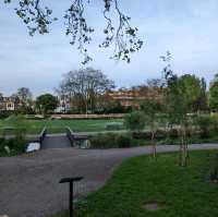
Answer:
<svg viewBox="0 0 218 217"><path fill-rule="evenodd" d="M83 179L83 177L74 177L74 178L63 178L59 183L69 183L70 184L70 195L69 195L69 212L70 217L73 217L73 183L78 182Z"/></svg>

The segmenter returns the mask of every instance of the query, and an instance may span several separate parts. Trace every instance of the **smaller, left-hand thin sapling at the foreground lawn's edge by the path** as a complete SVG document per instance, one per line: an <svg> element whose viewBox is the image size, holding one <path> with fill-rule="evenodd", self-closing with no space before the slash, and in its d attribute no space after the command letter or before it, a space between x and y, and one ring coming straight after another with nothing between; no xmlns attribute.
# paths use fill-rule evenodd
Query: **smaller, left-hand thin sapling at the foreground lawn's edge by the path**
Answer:
<svg viewBox="0 0 218 217"><path fill-rule="evenodd" d="M145 113L145 121L146 123L149 125L150 129L150 141L152 141L152 145L153 145L153 156L156 159L156 142L155 142L155 136L159 126L159 122L160 122L160 112L162 111L162 104L155 99L155 98L150 98L150 99L146 99L143 101L143 104L141 105L141 108L143 110L143 112Z"/></svg>

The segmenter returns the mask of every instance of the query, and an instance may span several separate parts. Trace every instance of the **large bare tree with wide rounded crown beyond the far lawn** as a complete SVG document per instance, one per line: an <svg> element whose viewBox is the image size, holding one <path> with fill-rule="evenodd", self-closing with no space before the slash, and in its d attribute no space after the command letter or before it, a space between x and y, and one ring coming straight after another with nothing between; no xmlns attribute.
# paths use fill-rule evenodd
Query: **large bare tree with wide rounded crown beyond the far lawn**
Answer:
<svg viewBox="0 0 218 217"><path fill-rule="evenodd" d="M68 96L72 106L78 108L81 112L88 113L99 109L100 99L113 87L114 82L101 71L87 68L66 73L58 93Z"/></svg>

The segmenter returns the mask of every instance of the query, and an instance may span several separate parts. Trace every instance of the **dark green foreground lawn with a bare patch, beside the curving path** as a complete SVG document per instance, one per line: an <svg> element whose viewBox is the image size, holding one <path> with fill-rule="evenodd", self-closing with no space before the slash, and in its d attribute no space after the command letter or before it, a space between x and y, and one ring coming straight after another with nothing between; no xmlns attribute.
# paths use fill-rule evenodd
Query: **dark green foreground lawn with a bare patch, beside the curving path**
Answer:
<svg viewBox="0 0 218 217"><path fill-rule="evenodd" d="M149 156L124 160L102 189L81 201L75 216L218 216L218 183L209 181L216 153L192 152L187 168L178 166L178 154L158 155L157 162ZM147 203L160 209L147 210Z"/></svg>

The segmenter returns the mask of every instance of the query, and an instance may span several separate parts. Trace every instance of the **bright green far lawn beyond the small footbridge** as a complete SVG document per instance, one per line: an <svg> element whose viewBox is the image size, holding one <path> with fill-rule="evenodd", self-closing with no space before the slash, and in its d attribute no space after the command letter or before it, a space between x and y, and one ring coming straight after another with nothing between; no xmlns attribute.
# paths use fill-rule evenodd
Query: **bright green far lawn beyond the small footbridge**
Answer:
<svg viewBox="0 0 218 217"><path fill-rule="evenodd" d="M122 125L122 119L110 120L27 120L27 133L37 134L44 126L48 128L49 133L62 133L65 132L65 126L70 126L74 131L78 132L93 132L93 131L107 131L108 124L120 123L120 130L124 129ZM8 125L7 120L0 120L0 132ZM112 130L112 128L111 128ZM114 129L117 130L117 129Z"/></svg>

